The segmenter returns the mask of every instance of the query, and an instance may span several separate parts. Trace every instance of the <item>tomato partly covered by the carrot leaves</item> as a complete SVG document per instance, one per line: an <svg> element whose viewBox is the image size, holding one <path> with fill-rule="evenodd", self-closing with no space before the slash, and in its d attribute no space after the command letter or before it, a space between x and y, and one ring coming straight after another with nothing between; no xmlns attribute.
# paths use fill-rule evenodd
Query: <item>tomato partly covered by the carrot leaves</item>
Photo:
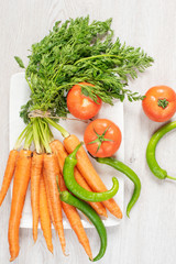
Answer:
<svg viewBox="0 0 176 264"><path fill-rule="evenodd" d="M80 82L80 85L94 86L88 82ZM102 101L99 97L95 102L90 97L85 96L79 85L73 86L67 96L67 108L78 119L91 119L99 112L101 105Z"/></svg>

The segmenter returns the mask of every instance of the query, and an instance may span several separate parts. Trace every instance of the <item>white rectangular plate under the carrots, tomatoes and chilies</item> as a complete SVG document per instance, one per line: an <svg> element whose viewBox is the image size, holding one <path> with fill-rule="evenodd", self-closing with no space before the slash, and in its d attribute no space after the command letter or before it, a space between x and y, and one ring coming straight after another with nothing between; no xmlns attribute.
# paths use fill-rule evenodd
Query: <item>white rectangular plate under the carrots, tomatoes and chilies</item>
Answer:
<svg viewBox="0 0 176 264"><path fill-rule="evenodd" d="M15 141L19 138L22 130L25 128L25 124L23 123L23 120L20 118L19 112L21 106L25 105L30 97L30 88L28 86L28 82L24 78L24 73L14 74L11 77L11 84L10 84L10 111L9 111L9 129L10 129L10 150L14 147ZM101 111L98 116L98 118L107 118L116 122L123 136L123 105L118 101L113 107L103 105L101 108ZM75 133L79 140L82 140L84 131L87 127L86 123L82 123L80 121L64 121L61 120L59 122L66 130L69 131L69 133ZM58 131L52 130L54 133L55 139L62 140L62 135ZM122 139L121 146L117 153L117 157L121 161L124 158L124 143ZM100 165L92 161L94 166L96 167L99 175L101 175L101 178L106 186L110 188L112 186L112 176L118 176L118 172L116 172L113 168L107 166L107 165ZM124 185L122 177L118 177L119 179L119 191L116 195L114 199L117 200L118 205L120 206L122 212L123 212L123 193L124 193ZM30 189L31 186L29 186L26 198L25 198L25 205L23 209L23 215L21 219L20 227L21 228L32 228L32 210L31 210L31 200L30 200ZM12 185L11 185L11 194L12 194ZM70 229L70 226L64 216L64 228ZM92 228L94 226L88 222L81 215L82 224L85 228ZM112 215L108 213L108 219L102 219L106 227L117 226L121 222L121 220L116 219Z"/></svg>

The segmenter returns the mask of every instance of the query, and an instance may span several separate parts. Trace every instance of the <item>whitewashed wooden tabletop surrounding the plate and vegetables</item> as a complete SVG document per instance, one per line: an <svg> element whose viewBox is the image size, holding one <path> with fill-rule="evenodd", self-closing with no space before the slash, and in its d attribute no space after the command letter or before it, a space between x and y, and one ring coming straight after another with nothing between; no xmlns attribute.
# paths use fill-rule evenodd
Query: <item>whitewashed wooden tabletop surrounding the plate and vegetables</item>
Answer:
<svg viewBox="0 0 176 264"><path fill-rule="evenodd" d="M112 16L116 36L130 45L143 47L155 58L154 66L132 81L130 88L144 94L152 86L168 85L176 90L175 0L0 0L0 184L9 152L10 77L20 72L13 56L25 58L31 44L47 34L56 20L86 14L97 20ZM124 216L120 227L108 228L108 249L99 263L176 262L176 183L156 179L145 161L148 139L158 127L160 123L144 116L141 102L124 102L125 163L139 174L142 193L131 219ZM173 176L176 176L175 140L176 133L172 132L157 147L160 164ZM133 185L125 180L125 206L132 190ZM0 264L8 264L10 257L9 213L10 193L0 208ZM95 255L99 249L99 238L95 230L87 233ZM41 232L34 245L31 230L20 230L21 252L14 263L89 263L73 231L66 231L67 257L63 256L54 231L53 237L54 255L46 250Z"/></svg>

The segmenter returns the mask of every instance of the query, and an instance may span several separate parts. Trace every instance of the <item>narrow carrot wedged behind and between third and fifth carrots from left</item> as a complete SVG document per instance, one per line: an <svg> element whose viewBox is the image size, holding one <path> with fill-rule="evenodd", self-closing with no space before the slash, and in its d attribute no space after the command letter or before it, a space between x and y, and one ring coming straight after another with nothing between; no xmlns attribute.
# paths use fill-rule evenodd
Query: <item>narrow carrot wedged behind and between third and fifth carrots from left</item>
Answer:
<svg viewBox="0 0 176 264"><path fill-rule="evenodd" d="M40 179L40 219L47 249L53 253L51 218L43 176Z"/></svg>

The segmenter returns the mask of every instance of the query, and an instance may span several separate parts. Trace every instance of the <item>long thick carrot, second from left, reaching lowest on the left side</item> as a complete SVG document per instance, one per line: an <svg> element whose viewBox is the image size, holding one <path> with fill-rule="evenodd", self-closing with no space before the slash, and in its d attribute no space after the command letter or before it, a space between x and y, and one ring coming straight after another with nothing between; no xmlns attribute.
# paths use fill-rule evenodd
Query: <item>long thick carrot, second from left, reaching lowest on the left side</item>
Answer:
<svg viewBox="0 0 176 264"><path fill-rule="evenodd" d="M31 151L21 150L19 153L16 167L14 172L13 193L11 202L11 212L9 220L9 250L10 261L19 255L19 228L23 211L25 195L31 176Z"/></svg>

